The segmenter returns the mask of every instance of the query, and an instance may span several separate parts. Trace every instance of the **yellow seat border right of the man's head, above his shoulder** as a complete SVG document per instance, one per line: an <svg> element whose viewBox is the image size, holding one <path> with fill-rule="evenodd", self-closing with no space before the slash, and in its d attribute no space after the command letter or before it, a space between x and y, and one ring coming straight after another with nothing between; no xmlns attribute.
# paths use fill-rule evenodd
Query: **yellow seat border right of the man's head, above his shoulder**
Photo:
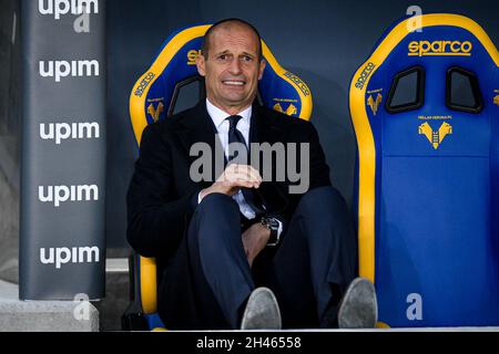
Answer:
<svg viewBox="0 0 499 354"><path fill-rule="evenodd" d="M274 70L274 72L281 79L288 82L296 90L296 92L299 95L299 100L302 101L302 111L299 112L299 117L302 119L309 121L313 108L310 88L298 76L294 75L293 73L289 73L287 70L282 67L279 63L277 63L277 60L272 54L271 50L268 49L267 44L265 44L264 41L262 41L262 52L263 56L265 58L267 64L271 65L272 70ZM296 77L296 82L286 76L285 75L286 73L289 73L293 77Z"/></svg>

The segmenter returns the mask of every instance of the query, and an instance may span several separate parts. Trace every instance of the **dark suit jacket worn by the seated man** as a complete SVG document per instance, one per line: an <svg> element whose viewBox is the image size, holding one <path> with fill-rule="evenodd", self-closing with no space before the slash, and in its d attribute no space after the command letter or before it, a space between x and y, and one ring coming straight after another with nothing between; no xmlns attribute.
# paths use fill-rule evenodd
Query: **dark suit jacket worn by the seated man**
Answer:
<svg viewBox="0 0 499 354"><path fill-rule="evenodd" d="M167 260L175 253L197 205L200 190L213 183L192 181L191 163L197 157L190 156L190 148L194 143L204 142L214 150L215 144L220 144L215 133L204 101L144 129L126 197L126 236L140 254ZM309 189L330 185L329 168L312 123L255 104L249 140L271 145L309 143ZM216 177L212 175L213 180ZM268 215L278 217L284 230L302 197L288 192L289 184L286 177L285 181L263 181L259 187Z"/></svg>

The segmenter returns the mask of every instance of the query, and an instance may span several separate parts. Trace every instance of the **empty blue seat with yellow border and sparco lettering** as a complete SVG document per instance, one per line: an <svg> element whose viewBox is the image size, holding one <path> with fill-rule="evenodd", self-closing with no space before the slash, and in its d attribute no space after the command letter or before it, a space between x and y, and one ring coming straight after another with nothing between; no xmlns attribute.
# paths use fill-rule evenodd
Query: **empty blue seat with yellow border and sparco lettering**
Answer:
<svg viewBox="0 0 499 354"><path fill-rule="evenodd" d="M359 270L386 325L499 324L498 66L479 24L435 13L353 77Z"/></svg>

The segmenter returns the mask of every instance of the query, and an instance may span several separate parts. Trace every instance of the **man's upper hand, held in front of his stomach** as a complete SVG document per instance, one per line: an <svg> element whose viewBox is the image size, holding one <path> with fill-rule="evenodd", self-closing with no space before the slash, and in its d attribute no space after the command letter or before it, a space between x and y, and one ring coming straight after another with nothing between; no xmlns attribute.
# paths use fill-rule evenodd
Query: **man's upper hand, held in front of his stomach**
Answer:
<svg viewBox="0 0 499 354"><path fill-rule="evenodd" d="M241 188L259 188L261 184L262 176L252 166L231 164L213 185L201 190L200 201L212 192L221 192L232 197Z"/></svg>

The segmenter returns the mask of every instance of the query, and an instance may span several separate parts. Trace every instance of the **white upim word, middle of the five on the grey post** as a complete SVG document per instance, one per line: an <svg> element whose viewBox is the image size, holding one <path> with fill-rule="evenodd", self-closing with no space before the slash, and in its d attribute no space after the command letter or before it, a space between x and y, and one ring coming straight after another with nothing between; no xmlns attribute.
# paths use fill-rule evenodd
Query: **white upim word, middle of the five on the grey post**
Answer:
<svg viewBox="0 0 499 354"><path fill-rule="evenodd" d="M65 139L91 139L100 137L99 123L42 123L40 137L43 140L55 140L60 145Z"/></svg>

